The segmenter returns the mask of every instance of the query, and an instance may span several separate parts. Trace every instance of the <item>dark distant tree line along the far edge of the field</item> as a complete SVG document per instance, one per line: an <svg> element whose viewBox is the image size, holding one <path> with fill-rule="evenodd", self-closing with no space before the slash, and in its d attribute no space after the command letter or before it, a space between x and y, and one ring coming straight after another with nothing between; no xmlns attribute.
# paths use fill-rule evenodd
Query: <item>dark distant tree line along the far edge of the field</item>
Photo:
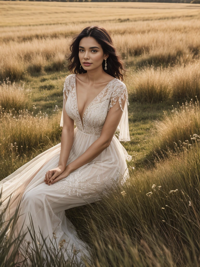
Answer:
<svg viewBox="0 0 200 267"><path fill-rule="evenodd" d="M16 1L16 0L6 0ZM192 3L200 4L200 0L19 0L19 1L42 1L42 2L157 2L157 3Z"/></svg>

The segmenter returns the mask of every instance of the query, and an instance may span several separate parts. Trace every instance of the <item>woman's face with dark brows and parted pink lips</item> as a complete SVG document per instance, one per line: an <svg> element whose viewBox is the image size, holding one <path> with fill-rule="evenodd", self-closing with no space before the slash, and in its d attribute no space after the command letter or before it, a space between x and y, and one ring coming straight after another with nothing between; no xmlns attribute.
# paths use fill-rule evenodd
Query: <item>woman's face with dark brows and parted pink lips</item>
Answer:
<svg viewBox="0 0 200 267"><path fill-rule="evenodd" d="M108 55L103 53L101 45L93 37L83 37L81 39L78 56L85 70L93 70L102 66L103 59L108 57ZM90 64L84 62L89 62Z"/></svg>

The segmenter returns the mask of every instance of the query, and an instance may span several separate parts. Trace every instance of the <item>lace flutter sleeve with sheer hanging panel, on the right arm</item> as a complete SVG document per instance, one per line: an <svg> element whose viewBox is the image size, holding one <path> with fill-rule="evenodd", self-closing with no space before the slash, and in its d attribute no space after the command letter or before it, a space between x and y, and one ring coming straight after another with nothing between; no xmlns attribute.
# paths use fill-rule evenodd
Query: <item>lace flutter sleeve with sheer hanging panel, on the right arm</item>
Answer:
<svg viewBox="0 0 200 267"><path fill-rule="evenodd" d="M125 102L124 108L122 105L122 99ZM128 108L127 106L129 105L128 101L128 92L126 85L122 83L121 81L119 84L115 85L113 87L113 91L110 96L110 103L108 107L108 111L111 107L114 106L114 104L119 101L119 105L121 107L121 110L123 111L121 120L119 122L119 125L117 127L117 131L119 131L119 141L130 141L130 134L129 134L129 120L128 120Z"/></svg>

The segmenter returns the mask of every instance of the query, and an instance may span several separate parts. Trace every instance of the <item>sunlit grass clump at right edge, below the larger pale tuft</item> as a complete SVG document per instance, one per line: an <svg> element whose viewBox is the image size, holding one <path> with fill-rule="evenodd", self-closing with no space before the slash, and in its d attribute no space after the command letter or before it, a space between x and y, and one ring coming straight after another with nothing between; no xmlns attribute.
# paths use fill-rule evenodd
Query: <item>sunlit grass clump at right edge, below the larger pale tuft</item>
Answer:
<svg viewBox="0 0 200 267"><path fill-rule="evenodd" d="M162 159L167 155L168 149L177 151L183 147L188 148L196 135L200 135L199 101L186 101L178 109L173 107L169 114L164 113L162 120L154 121L149 157L153 155Z"/></svg>

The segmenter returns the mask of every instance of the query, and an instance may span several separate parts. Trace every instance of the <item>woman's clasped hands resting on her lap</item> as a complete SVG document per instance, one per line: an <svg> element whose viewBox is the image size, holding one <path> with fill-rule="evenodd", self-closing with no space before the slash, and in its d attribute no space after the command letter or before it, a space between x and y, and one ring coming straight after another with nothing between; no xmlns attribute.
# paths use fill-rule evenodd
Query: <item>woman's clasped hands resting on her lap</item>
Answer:
<svg viewBox="0 0 200 267"><path fill-rule="evenodd" d="M66 166L65 170L62 168L55 168L52 170L47 171L45 175L45 183L46 184L53 184L58 182L59 180L62 180L63 178L66 178L71 171L69 170L69 167Z"/></svg>

